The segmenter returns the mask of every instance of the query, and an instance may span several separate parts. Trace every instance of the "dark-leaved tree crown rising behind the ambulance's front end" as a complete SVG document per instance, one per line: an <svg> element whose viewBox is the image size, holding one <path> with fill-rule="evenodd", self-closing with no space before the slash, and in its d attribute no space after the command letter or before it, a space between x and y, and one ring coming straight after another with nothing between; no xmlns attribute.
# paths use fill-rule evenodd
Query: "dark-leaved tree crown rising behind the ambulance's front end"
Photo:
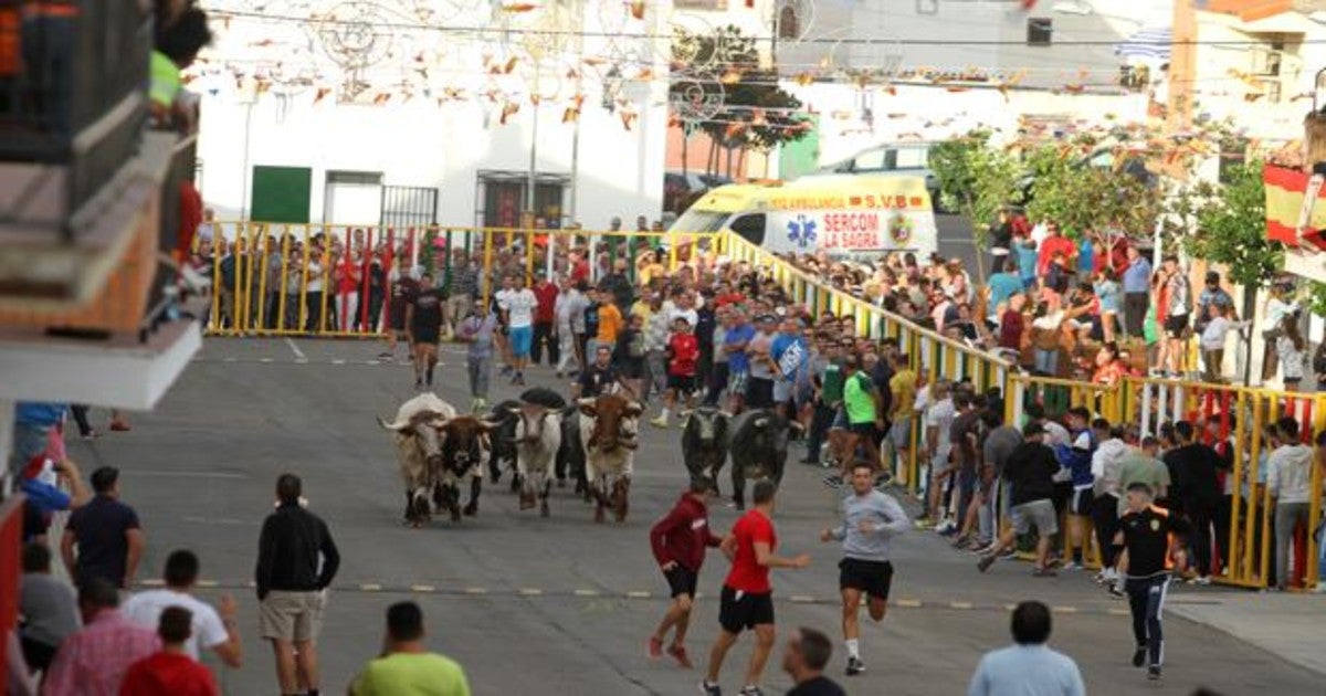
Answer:
<svg viewBox="0 0 1326 696"><path fill-rule="evenodd" d="M741 29L729 25L713 36L697 36L678 28L674 33L674 72L697 73L697 66L703 70L711 62L724 66L725 73L715 76L719 84L696 77L676 80L670 87L674 99L687 98L696 85L705 94L721 89L723 106L713 118L696 123L713 141L728 148L768 151L805 137L809 127L796 114L801 99L778 87L777 70L760 66L760 52Z"/></svg>

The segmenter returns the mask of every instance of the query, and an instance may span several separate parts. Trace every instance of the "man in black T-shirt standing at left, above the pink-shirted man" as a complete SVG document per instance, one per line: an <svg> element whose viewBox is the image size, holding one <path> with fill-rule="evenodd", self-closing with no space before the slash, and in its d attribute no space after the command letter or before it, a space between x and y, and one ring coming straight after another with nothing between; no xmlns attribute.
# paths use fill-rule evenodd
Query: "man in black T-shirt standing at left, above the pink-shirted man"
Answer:
<svg viewBox="0 0 1326 696"><path fill-rule="evenodd" d="M91 489L93 498L69 516L60 540L61 558L80 585L101 578L129 587L146 546L138 513L119 500L119 469L101 467L91 472Z"/></svg>

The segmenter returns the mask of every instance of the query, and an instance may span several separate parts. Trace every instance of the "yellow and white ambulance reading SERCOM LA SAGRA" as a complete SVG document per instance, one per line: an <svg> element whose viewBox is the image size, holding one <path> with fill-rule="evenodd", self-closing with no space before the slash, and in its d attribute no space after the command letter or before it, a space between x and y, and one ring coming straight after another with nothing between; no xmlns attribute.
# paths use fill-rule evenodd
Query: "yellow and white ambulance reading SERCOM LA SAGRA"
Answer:
<svg viewBox="0 0 1326 696"><path fill-rule="evenodd" d="M720 231L773 253L822 251L854 259L890 252L926 259L939 243L930 192L919 176L827 175L723 186L704 194L670 228Z"/></svg>

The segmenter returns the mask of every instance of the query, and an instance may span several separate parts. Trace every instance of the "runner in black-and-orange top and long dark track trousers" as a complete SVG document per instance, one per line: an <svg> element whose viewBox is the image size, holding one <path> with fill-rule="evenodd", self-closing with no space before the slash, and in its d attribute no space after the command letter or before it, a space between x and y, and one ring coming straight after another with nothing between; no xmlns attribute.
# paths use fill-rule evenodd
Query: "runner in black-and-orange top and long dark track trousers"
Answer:
<svg viewBox="0 0 1326 696"><path fill-rule="evenodd" d="M1184 567L1184 544L1191 526L1181 517L1151 504L1151 487L1128 487L1128 512L1119 518L1114 545L1123 546L1119 574L1132 610L1132 636L1138 642L1132 666L1147 666L1147 679L1160 679L1164 639L1160 611L1175 567Z"/></svg>

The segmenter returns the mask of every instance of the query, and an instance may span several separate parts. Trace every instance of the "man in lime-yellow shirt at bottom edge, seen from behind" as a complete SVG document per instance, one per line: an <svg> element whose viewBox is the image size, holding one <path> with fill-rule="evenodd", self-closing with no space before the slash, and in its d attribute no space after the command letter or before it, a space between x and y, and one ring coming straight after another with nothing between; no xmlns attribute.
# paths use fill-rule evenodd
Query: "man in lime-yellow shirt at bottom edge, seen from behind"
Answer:
<svg viewBox="0 0 1326 696"><path fill-rule="evenodd" d="M455 660L424 644L423 611L414 602L387 607L382 656L369 662L350 684L351 696L416 693L469 696L469 680Z"/></svg>

